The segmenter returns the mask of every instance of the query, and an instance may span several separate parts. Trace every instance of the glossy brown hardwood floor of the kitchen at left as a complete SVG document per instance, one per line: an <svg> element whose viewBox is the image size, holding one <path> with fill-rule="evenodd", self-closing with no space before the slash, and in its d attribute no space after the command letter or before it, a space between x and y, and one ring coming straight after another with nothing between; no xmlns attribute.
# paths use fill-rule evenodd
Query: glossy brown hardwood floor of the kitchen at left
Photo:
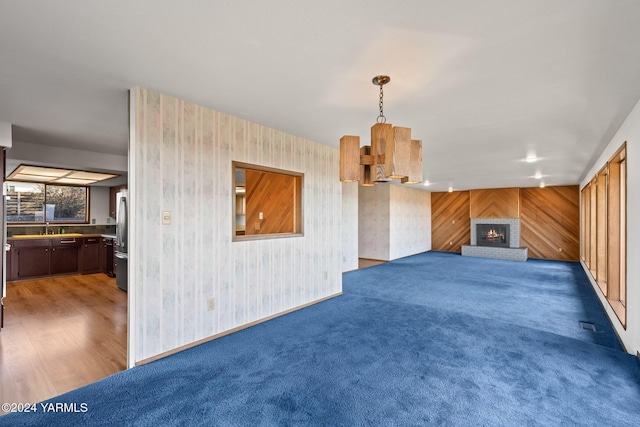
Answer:
<svg viewBox="0 0 640 427"><path fill-rule="evenodd" d="M0 402L39 402L126 368L127 294L115 279L8 283L4 305Z"/></svg>

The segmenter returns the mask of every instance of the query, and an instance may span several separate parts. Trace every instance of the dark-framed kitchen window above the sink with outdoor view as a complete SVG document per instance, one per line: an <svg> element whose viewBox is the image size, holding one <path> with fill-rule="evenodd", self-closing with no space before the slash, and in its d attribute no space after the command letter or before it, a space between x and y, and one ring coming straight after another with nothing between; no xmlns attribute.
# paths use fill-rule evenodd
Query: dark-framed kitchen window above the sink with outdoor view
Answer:
<svg viewBox="0 0 640 427"><path fill-rule="evenodd" d="M89 187L7 181L8 223L86 223Z"/></svg>

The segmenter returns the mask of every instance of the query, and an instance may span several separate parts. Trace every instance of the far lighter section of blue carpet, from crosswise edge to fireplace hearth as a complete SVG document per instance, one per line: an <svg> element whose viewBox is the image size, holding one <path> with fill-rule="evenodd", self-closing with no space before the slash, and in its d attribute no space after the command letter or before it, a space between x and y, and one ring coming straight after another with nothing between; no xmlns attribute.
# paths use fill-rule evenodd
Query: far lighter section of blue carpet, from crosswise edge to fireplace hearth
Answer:
<svg viewBox="0 0 640 427"><path fill-rule="evenodd" d="M345 294L503 320L622 350L577 262L527 262L425 252L344 275ZM579 327L593 323L596 332Z"/></svg>

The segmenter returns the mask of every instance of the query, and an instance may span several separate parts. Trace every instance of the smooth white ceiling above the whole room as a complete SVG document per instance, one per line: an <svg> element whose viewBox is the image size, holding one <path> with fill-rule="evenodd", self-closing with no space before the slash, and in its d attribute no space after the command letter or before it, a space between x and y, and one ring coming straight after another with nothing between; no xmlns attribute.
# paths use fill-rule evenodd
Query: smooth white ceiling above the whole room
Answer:
<svg viewBox="0 0 640 427"><path fill-rule="evenodd" d="M577 184L640 98L639 22L637 0L0 0L0 121L126 155L139 85L368 144L388 74L427 189Z"/></svg>

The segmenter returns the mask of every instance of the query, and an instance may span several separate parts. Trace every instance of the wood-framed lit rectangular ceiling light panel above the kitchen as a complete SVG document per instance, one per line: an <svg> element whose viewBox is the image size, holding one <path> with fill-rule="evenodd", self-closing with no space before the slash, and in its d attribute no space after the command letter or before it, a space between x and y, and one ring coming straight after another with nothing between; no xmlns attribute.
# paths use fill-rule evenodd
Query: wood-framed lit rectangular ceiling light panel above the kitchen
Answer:
<svg viewBox="0 0 640 427"><path fill-rule="evenodd" d="M20 165L7 177L7 180L45 182L66 185L89 185L115 178L117 174L87 172L46 166Z"/></svg>

